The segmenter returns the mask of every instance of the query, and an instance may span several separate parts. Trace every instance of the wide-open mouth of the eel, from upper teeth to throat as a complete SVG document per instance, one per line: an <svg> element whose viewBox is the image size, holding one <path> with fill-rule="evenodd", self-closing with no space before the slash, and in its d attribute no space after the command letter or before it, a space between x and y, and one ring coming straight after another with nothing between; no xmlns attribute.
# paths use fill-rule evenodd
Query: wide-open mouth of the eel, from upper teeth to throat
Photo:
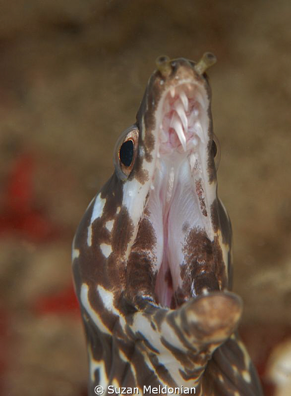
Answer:
<svg viewBox="0 0 291 396"><path fill-rule="evenodd" d="M203 235L211 244L214 234L208 187L209 117L208 99L198 84L183 83L165 94L158 119L159 147L144 216L155 230L157 244L156 302L175 308L195 297L195 279L185 291L185 267L189 264L187 244L191 235ZM191 261L204 265L205 257ZM199 261L200 260L200 261ZM184 296L182 299L178 294Z"/></svg>

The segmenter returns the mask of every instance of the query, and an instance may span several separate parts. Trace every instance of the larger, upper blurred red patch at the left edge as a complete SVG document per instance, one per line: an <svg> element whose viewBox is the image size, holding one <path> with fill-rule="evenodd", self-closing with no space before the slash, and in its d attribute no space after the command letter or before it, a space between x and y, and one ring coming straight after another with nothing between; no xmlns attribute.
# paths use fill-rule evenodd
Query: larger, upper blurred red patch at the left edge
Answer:
<svg viewBox="0 0 291 396"><path fill-rule="evenodd" d="M62 235L62 228L35 207L34 170L30 154L21 155L14 164L0 208L0 235L16 234L36 243L55 240Z"/></svg>

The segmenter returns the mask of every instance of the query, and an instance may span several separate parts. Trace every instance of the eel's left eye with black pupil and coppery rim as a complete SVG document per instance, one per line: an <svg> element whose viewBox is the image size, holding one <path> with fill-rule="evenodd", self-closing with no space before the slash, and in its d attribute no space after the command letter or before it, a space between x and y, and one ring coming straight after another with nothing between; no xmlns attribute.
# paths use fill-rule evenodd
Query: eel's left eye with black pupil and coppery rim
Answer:
<svg viewBox="0 0 291 396"><path fill-rule="evenodd" d="M122 132L116 142L114 164L116 174L122 181L130 175L136 159L138 132L137 126L132 125Z"/></svg>

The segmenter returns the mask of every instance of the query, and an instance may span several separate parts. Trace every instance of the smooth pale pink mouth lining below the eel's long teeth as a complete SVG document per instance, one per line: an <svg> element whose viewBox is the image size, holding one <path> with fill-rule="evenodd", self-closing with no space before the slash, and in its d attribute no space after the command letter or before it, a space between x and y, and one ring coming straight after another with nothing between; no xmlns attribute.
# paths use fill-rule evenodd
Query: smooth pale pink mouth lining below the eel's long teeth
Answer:
<svg viewBox="0 0 291 396"><path fill-rule="evenodd" d="M206 231L209 228L209 217L206 218L201 212L194 180L187 155L175 153L161 157L146 216L155 229L158 241L155 267L161 272L156 291L163 305L168 305L173 294L163 286L169 268L174 290L181 286L180 265L184 262L183 245L188 231L193 228Z"/></svg>

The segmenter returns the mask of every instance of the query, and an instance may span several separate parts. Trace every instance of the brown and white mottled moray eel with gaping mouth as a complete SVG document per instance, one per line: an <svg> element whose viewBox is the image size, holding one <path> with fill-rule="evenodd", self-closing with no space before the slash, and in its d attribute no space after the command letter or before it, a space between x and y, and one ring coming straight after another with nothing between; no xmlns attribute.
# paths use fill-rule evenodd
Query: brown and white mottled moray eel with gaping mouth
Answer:
<svg viewBox="0 0 291 396"><path fill-rule="evenodd" d="M115 172L77 229L90 396L97 385L105 395L110 385L262 395L236 333L242 302L229 291L232 229L217 196L205 73L214 62L209 52L197 63L157 59L136 122L116 143Z"/></svg>

